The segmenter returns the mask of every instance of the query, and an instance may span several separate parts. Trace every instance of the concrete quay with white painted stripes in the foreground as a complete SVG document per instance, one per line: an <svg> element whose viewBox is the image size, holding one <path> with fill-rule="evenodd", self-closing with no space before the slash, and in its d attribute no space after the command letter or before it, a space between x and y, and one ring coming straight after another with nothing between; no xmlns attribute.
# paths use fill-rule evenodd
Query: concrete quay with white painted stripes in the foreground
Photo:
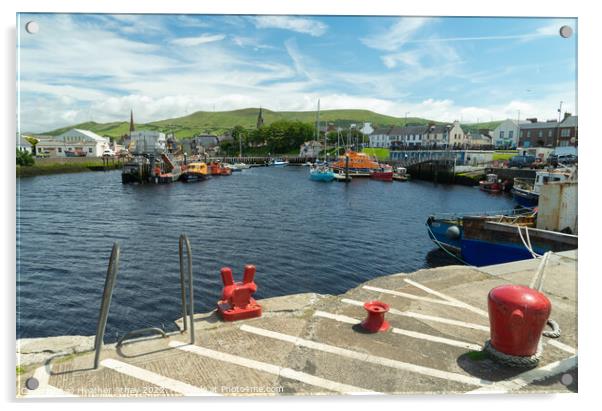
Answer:
<svg viewBox="0 0 602 411"><path fill-rule="evenodd" d="M508 368L480 351L489 339L489 290L529 285L538 265L525 260L393 274L342 295L265 299L261 318L233 323L215 311L196 314L195 345L187 333L106 345L97 370L94 353L81 352L81 337L74 338L79 350L63 339L54 354L50 338L27 341L30 354L46 350L51 358L29 357L17 376L17 396L577 392L576 250L552 254L546 267L543 292L562 334L542 337L539 366ZM391 306L391 329L367 334L358 326L366 316L362 304L376 299ZM34 390L26 387L32 376L39 383Z"/></svg>

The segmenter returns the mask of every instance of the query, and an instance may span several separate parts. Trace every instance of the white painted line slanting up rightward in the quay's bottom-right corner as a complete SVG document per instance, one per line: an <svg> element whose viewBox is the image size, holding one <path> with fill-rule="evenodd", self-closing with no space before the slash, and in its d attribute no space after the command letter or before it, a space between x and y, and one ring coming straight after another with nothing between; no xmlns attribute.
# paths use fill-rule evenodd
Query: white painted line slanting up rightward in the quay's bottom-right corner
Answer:
<svg viewBox="0 0 602 411"><path fill-rule="evenodd" d="M519 390L531 383L541 381L555 375L565 373L577 366L577 356L574 355L564 360L556 361L543 367L535 368L530 371L523 372L514 378L496 382L488 387L482 387L467 394L504 394L511 391Z"/></svg>

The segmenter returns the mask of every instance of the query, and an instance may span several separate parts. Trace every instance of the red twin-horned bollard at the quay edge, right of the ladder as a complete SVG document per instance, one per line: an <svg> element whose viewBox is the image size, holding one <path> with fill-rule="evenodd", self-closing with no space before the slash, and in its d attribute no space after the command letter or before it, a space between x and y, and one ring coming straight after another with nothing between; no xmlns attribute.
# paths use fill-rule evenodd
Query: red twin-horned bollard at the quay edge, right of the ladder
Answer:
<svg viewBox="0 0 602 411"><path fill-rule="evenodd" d="M255 266L245 265L242 283L235 283L232 269L220 270L224 289L222 298L217 302L217 311L224 321L238 321L261 317L261 306L251 297L257 291Z"/></svg>

